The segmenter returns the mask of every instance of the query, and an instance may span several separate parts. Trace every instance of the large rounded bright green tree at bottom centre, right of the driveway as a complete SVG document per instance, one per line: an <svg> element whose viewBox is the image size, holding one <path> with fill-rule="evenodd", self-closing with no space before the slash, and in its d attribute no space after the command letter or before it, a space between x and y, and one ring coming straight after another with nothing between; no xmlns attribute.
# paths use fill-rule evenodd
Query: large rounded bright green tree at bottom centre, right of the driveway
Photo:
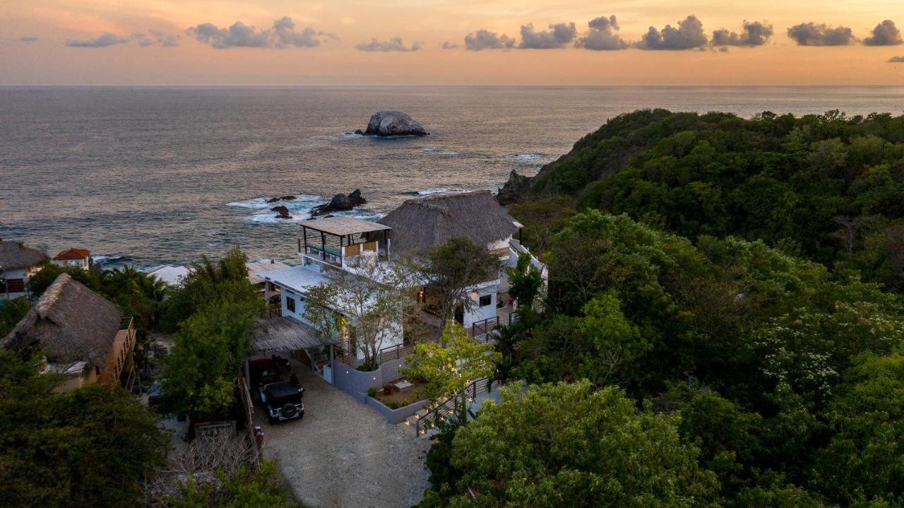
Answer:
<svg viewBox="0 0 904 508"><path fill-rule="evenodd" d="M457 431L461 478L448 504L715 506L715 475L698 466L678 421L588 382L504 390Z"/></svg>

